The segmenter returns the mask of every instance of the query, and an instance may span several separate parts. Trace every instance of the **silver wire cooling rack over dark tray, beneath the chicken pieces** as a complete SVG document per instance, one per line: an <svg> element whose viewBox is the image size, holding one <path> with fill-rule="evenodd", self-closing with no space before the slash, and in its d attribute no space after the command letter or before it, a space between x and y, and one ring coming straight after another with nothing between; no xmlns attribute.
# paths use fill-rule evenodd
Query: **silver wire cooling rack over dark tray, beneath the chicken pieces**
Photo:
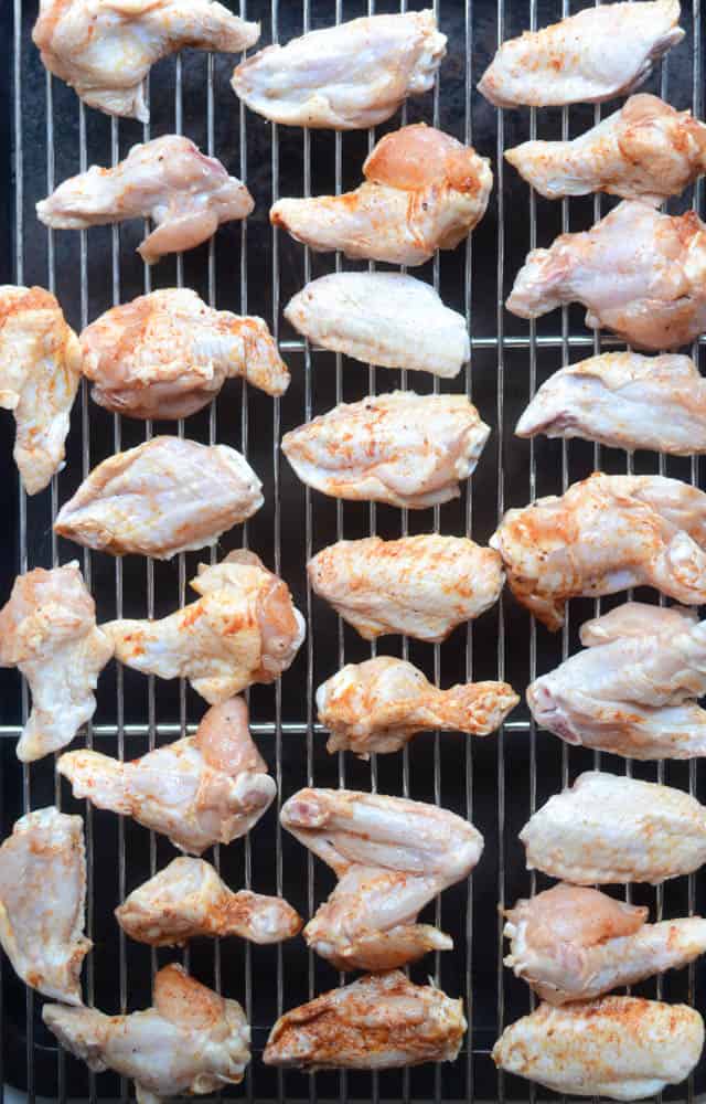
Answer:
<svg viewBox="0 0 706 1104"><path fill-rule="evenodd" d="M238 11L237 2L229 0ZM403 10L405 8L405 0ZM582 4L579 4L582 6ZM577 6L577 7L579 7ZM92 554L57 540L51 529L58 505L99 460L120 448L162 432L240 448L264 481L266 505L242 530L226 534L213 558L233 546L254 548L281 572L309 625L306 645L281 683L253 688L253 730L286 799L302 785L347 786L431 800L473 820L485 837L485 852L467 883L447 891L429 909L429 919L454 940L454 951L427 957L411 969L416 980L428 975L452 996L463 996L469 1033L450 1065L381 1074L282 1074L264 1066L260 1053L267 1031L286 1008L339 984L333 969L309 955L301 940L279 947L253 947L236 940L196 941L181 958L200 980L238 998L253 1023L254 1060L244 1085L227 1095L247 1101L471 1101L535 1100L547 1095L517 1079L496 1074L490 1050L502 1028L532 1007L524 984L503 970L502 920L498 905L511 903L546 884L524 870L516 835L531 813L581 769L591 766L633 773L681 786L704 799L696 763L631 764L581 749L569 751L554 736L536 732L521 707L504 729L484 741L453 733L428 733L397 755L370 763L339 754L329 756L314 723L313 692L319 682L347 661L371 654L332 611L307 590L304 563L318 549L342 537L377 532L398 537L439 529L467 533L486 542L509 506L537 495L560 492L593 468L611 473L660 471L698 482L696 460L654 454L628 455L586 443L521 442L513 436L520 412L536 388L564 363L612 342L584 325L582 311L564 309L537 323L526 323L503 309L525 253L546 245L567 230L589 226L608 209L600 197L552 204L536 197L503 164L503 150L530 137L574 136L612 109L578 106L542 113L501 113L474 91L475 81L498 43L522 30L570 14L567 0L436 0L449 53L434 92L410 100L402 115L370 134L308 132L272 126L250 115L233 96L228 78L233 60L186 51L159 63L149 81L151 123L116 120L84 108L61 81L44 72L31 43L35 0L4 0L0 17L8 49L1 82L8 84L12 144L7 164L8 224L11 255L0 256L0 276L18 284L41 284L55 291L76 329L110 306L128 301L152 287L184 285L210 304L261 315L279 339L292 384L281 400L270 400L240 385L226 385L212 407L185 423L151 424L109 415L88 399L84 385L74 408L66 468L51 488L26 499L14 476L3 480L6 530L2 601L14 574L78 559L98 607L98 619L115 616L161 616L183 604L188 581L200 556L179 556L171 564ZM411 6L410 6L411 7ZM415 3L415 7L422 4ZM287 41L317 26L382 11L396 3L375 0L240 0L239 14L263 23L260 44ZM685 42L653 74L646 91L675 106L703 108L703 22L700 0L684 4ZM341 503L311 493L281 464L278 444L284 432L329 410L342 400L410 386L439 389L439 381L415 373L367 370L353 361L312 349L280 321L281 307L306 280L359 265L336 256L314 256L269 226L267 212L280 195L339 192L356 187L362 161L377 137L404 121L425 119L448 130L493 161L495 187L488 214L466 246L445 253L416 273L432 282L449 306L464 312L471 333L472 365L443 388L466 391L493 435L477 473L461 498L434 510L406 511L363 503ZM183 257L142 265L135 246L143 227L57 233L41 226L34 203L61 180L92 163L115 164L137 141L168 132L184 132L202 149L223 160L245 180L256 200L246 223L222 227L215 242ZM9 137L8 137L9 140ZM703 189L670 203L674 213L695 205L703 214ZM8 227L3 227L3 231ZM694 348L700 359L702 349ZM13 471L11 434L0 447L3 470ZM654 594L648 601L654 601ZM621 596L622 597L622 596ZM619 599L616 599L619 601ZM613 601L603 602L603 608ZM571 604L567 627L550 637L504 595L474 625L457 630L442 646L385 638L384 652L409 657L441 684L470 678L506 678L522 692L539 672L550 669L578 647L577 627L596 612L596 603ZM375 651L375 646L372 646ZM108 1012L146 1007L156 968L178 953L154 952L126 940L113 909L126 893L164 866L174 854L170 845L146 829L75 803L54 774L51 757L22 767L14 756L15 739L28 712L26 687L14 671L0 672L0 756L2 764L2 835L23 811L56 802L83 814L88 856L87 931L94 951L84 970L85 995ZM143 678L111 665L101 676L98 711L85 741L107 754L135 757L193 731L204 703L184 683ZM83 737L79 737L83 739ZM332 888L330 873L279 828L276 810L249 837L216 848L213 860L233 888L284 893L306 916ZM704 911L703 879L676 879L664 888L627 888L653 916ZM3 962L2 1071L0 1084L12 1100L35 1096L65 1100L126 1100L132 1086L114 1074L99 1078L57 1050L42 1025L41 998L25 989ZM692 967L640 987L648 996L688 1000L704 1006L704 975ZM703 1091L696 1074L665 1094L694 1100Z"/></svg>

